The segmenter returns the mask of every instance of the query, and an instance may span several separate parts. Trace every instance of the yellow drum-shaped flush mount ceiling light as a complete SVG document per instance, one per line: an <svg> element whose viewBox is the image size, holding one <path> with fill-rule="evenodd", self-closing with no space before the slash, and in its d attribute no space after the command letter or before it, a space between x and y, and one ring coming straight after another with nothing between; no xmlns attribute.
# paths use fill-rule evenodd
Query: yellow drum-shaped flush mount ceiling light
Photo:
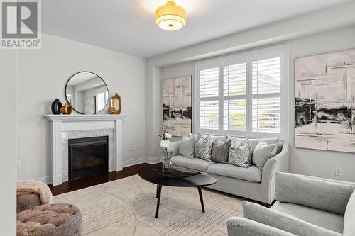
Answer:
<svg viewBox="0 0 355 236"><path fill-rule="evenodd" d="M186 11L174 1L168 1L156 9L155 23L164 30L180 30L186 23Z"/></svg>

